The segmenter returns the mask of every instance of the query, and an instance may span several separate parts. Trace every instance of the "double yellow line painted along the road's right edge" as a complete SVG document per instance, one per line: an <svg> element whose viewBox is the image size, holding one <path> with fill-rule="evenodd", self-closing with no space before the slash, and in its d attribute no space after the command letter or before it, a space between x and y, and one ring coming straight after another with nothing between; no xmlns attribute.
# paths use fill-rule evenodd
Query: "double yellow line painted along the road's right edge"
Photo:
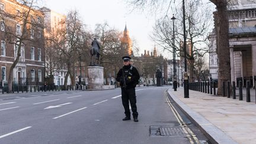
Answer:
<svg viewBox="0 0 256 144"><path fill-rule="evenodd" d="M187 126L187 124L184 122L184 120L181 118L180 114L178 113L178 111L175 109L175 107L171 104L171 101L168 98L168 94L167 94L168 90L165 90L165 99L167 100L167 104L169 105L169 107L171 108L172 112L174 113L174 116L176 117L176 119L178 120L178 122L181 125L181 128L184 130L184 132L186 133L186 136L188 137L188 139L190 140L190 143L197 143L200 144L199 140L197 139L196 135L190 130L190 128Z"/></svg>

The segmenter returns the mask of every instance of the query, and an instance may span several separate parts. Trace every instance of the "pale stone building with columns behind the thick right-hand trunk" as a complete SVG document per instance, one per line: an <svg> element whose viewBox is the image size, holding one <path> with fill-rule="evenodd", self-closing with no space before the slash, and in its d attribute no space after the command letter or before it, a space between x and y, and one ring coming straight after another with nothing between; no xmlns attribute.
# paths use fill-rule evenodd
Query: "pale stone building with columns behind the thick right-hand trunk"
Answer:
<svg viewBox="0 0 256 144"><path fill-rule="evenodd" d="M253 1L233 0L229 9L229 46L231 57L231 81L250 81L255 87L256 78L256 4ZM214 30L213 30L214 31ZM209 66L212 76L217 76L216 37L209 36ZM213 62L213 63L212 63Z"/></svg>

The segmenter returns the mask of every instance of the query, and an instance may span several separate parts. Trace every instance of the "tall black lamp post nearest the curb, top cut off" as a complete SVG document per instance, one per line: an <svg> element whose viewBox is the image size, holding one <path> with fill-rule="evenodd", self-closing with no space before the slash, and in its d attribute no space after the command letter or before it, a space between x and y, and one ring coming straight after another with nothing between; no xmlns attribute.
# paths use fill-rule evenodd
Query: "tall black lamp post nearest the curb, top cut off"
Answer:
<svg viewBox="0 0 256 144"><path fill-rule="evenodd" d="M188 96L188 75L187 75L187 46L186 46L186 36L185 36L185 2L183 0L183 37L184 37L184 98L189 98Z"/></svg>

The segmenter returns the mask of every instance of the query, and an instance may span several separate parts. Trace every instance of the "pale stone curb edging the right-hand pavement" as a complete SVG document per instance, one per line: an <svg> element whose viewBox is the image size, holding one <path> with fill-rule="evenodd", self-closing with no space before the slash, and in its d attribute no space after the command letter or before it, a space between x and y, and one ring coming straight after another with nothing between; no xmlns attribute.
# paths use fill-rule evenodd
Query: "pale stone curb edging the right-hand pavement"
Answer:
<svg viewBox="0 0 256 144"><path fill-rule="evenodd" d="M172 100L181 108L181 110L185 113L185 115L199 127L200 130L209 138L209 140L213 143L237 143L231 137L226 135L222 130L217 128L214 124L210 123L206 120L201 114L192 110L182 101L180 101L170 89L168 89L168 94L172 98Z"/></svg>

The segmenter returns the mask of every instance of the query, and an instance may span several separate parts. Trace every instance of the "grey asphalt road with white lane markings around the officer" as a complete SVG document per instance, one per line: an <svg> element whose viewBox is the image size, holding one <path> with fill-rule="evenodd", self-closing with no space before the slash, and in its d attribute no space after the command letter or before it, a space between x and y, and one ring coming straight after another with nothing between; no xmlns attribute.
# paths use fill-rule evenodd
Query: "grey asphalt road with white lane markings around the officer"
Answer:
<svg viewBox="0 0 256 144"><path fill-rule="evenodd" d="M0 143L200 143L207 140L165 94L136 88L139 122L122 121L120 89L0 95Z"/></svg>

